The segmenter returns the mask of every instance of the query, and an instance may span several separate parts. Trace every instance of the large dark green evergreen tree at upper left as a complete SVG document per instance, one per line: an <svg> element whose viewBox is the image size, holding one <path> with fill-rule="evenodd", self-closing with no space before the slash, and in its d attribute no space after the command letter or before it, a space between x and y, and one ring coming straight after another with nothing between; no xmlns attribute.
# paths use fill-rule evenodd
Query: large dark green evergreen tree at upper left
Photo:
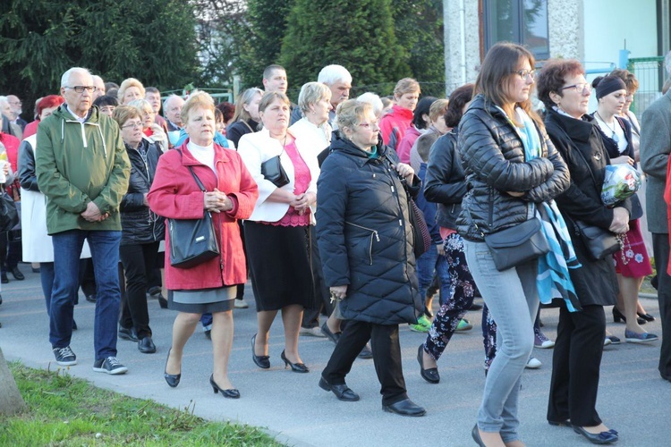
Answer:
<svg viewBox="0 0 671 447"><path fill-rule="evenodd" d="M181 0L5 0L0 48L0 91L24 100L56 93L72 66L160 89L199 75L195 17Z"/></svg>

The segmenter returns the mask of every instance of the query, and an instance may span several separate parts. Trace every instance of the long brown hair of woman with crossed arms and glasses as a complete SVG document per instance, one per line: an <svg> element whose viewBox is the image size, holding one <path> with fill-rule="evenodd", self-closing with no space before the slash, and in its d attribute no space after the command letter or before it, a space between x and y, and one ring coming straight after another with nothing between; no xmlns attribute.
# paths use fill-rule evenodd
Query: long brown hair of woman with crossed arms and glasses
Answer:
<svg viewBox="0 0 671 447"><path fill-rule="evenodd" d="M484 95L486 101L493 102L504 109L505 114L508 115L513 122L515 121L514 107L510 105L510 99L506 97L506 90L512 79L512 76L517 76L519 64L526 59L533 70L536 65L536 59L531 52L524 46L513 44L510 42L499 42L495 46L489 48L485 60L482 61L478 78L475 80L475 93ZM531 84L531 90L533 84ZM531 118L543 126L538 115L531 108L531 90L529 98L522 103L516 105L521 107Z"/></svg>

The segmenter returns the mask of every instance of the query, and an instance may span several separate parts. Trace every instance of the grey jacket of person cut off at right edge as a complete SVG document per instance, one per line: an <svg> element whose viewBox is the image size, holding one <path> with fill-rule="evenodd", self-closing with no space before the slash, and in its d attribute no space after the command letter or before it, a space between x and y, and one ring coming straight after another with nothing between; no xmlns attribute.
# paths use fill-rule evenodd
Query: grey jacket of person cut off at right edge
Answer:
<svg viewBox="0 0 671 447"><path fill-rule="evenodd" d="M648 229L668 233L664 188L671 152L671 90L643 112L641 129L641 169L648 174L645 190Z"/></svg>

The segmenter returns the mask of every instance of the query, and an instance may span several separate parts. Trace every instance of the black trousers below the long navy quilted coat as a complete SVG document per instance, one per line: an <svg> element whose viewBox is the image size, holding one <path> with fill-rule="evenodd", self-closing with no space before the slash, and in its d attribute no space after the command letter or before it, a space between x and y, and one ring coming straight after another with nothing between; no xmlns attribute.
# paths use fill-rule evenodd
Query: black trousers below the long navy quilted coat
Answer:
<svg viewBox="0 0 671 447"><path fill-rule="evenodd" d="M350 320L335 345L327 367L321 373L329 384L344 384L344 377L363 347L370 340L375 372L381 385L382 405L408 398L401 364L398 325L375 325Z"/></svg>

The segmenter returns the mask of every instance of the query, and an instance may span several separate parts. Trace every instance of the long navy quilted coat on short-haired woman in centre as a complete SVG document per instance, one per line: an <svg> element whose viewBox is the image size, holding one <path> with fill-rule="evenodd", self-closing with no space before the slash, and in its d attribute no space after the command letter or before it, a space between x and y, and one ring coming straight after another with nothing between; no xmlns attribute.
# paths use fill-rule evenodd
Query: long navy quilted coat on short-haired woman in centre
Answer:
<svg viewBox="0 0 671 447"><path fill-rule="evenodd" d="M348 285L345 319L415 323L423 309L415 275L408 202L393 163L335 138L317 182L317 237L327 286ZM419 189L415 178L412 188Z"/></svg>

